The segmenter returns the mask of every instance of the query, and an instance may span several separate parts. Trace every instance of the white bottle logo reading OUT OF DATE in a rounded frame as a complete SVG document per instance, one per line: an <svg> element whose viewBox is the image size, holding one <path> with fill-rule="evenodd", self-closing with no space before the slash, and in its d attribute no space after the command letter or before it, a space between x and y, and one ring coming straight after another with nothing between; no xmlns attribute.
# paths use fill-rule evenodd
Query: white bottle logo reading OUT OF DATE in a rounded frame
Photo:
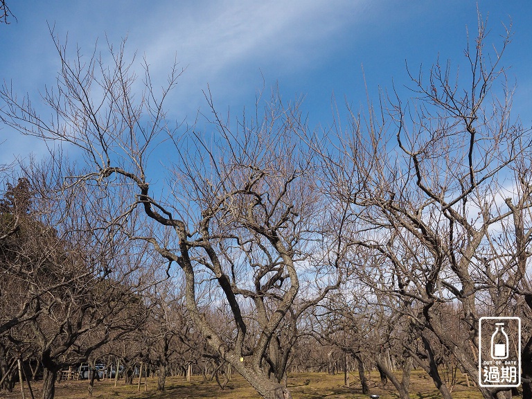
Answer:
<svg viewBox="0 0 532 399"><path fill-rule="evenodd" d="M481 317L479 320L479 384L519 387L521 384L521 319Z"/></svg>

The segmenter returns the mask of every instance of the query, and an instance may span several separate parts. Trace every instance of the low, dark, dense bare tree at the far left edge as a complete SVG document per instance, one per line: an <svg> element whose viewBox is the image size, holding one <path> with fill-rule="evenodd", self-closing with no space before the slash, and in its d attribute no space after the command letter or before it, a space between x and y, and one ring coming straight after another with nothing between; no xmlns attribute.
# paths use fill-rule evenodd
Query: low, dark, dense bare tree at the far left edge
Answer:
<svg viewBox="0 0 532 399"><path fill-rule="evenodd" d="M88 201L94 188L63 186L57 162L22 165L24 177L0 203L1 217L17 222L0 244L0 336L42 364L44 399L53 398L60 369L143 321L147 284L145 245L98 224L105 196Z"/></svg>

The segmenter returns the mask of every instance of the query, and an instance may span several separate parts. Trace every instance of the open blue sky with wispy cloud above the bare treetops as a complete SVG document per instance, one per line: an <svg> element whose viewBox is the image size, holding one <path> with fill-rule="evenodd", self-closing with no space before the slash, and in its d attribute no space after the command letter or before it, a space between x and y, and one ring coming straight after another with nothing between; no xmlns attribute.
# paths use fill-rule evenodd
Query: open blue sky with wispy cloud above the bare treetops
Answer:
<svg viewBox="0 0 532 399"><path fill-rule="evenodd" d="M175 57L186 68L167 103L170 116L195 118L211 88L220 112L250 107L258 91L278 83L283 99L304 96L310 125L328 125L331 98L364 106L362 65L371 94L407 83L409 67L425 71L450 58L465 67L463 48L477 28L477 2L449 1L125 1L11 0L17 21L0 25L0 78L37 100L53 84L59 60L48 24L71 46L89 54L96 39L105 50L127 36L127 51L145 56L153 76L166 77ZM532 2L484 1L479 9L499 42L502 23L513 23L504 64L517 83L514 109L532 125ZM0 164L44 145L0 127Z"/></svg>

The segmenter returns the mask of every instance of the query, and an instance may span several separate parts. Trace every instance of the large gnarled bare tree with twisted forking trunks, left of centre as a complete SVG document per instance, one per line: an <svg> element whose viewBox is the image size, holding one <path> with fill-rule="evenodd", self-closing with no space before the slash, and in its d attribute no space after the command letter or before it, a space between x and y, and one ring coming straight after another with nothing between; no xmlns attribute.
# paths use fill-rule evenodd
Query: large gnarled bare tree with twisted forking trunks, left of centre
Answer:
<svg viewBox="0 0 532 399"><path fill-rule="evenodd" d="M53 120L45 121L4 86L3 123L80 148L87 172L67 184L105 188L113 225L150 220L151 227L139 225L127 234L179 265L189 317L206 342L262 396L290 398L276 378L268 378L272 339L299 292L298 269L324 237L327 222L312 161L296 140L306 128L297 104L285 106L274 96L263 114L257 110L231 127L207 96L215 130L208 140L168 123L163 100L181 74L177 66L157 99L145 64L145 89L135 96L136 76L123 46L109 48L113 61L107 65L96 54L84 60L78 53L71 62L55 43L62 69L57 87L44 95ZM158 197L148 158L162 142L173 152ZM314 282L310 301L318 301L337 286L339 270L329 260L313 267L328 276ZM213 301L231 315L230 337L206 317ZM249 335L246 312L258 314L257 335Z"/></svg>

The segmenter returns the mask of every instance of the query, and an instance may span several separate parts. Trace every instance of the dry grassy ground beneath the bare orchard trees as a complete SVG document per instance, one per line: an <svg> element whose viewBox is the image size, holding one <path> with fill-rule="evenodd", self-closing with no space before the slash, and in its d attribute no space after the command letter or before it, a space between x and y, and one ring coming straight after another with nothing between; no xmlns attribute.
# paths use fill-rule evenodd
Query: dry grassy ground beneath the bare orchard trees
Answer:
<svg viewBox="0 0 532 399"><path fill-rule="evenodd" d="M137 382L137 381L136 381ZM350 374L351 387L344 387L344 375L328 375L326 373L299 373L292 374L288 379L288 387L294 399L367 399L368 395L362 394L360 380L357 373ZM60 382L55 388L57 399L85 399L89 398L89 382L67 381ZM371 393L377 393L381 399L398 398L391 382L382 386L378 373L370 376L369 387ZM42 384L32 384L35 399L42 395ZM222 391L215 381L205 382L202 376L195 376L191 382L183 378L167 378L166 391L158 392L157 380L148 378L148 387L141 384L141 391L137 392L137 385L126 386L123 380L114 387L114 380L95 381L92 398L94 399L259 399L260 396L240 375L233 375L233 380ZM412 372L410 380L410 397L412 399L437 399L441 398L434 384L427 375L420 370ZM481 399L479 391L473 386L468 388L465 378L460 376L458 383L452 389L454 399ZM20 387L17 384L12 393L0 391L0 399L21 398ZM31 398L26 386L26 399Z"/></svg>

